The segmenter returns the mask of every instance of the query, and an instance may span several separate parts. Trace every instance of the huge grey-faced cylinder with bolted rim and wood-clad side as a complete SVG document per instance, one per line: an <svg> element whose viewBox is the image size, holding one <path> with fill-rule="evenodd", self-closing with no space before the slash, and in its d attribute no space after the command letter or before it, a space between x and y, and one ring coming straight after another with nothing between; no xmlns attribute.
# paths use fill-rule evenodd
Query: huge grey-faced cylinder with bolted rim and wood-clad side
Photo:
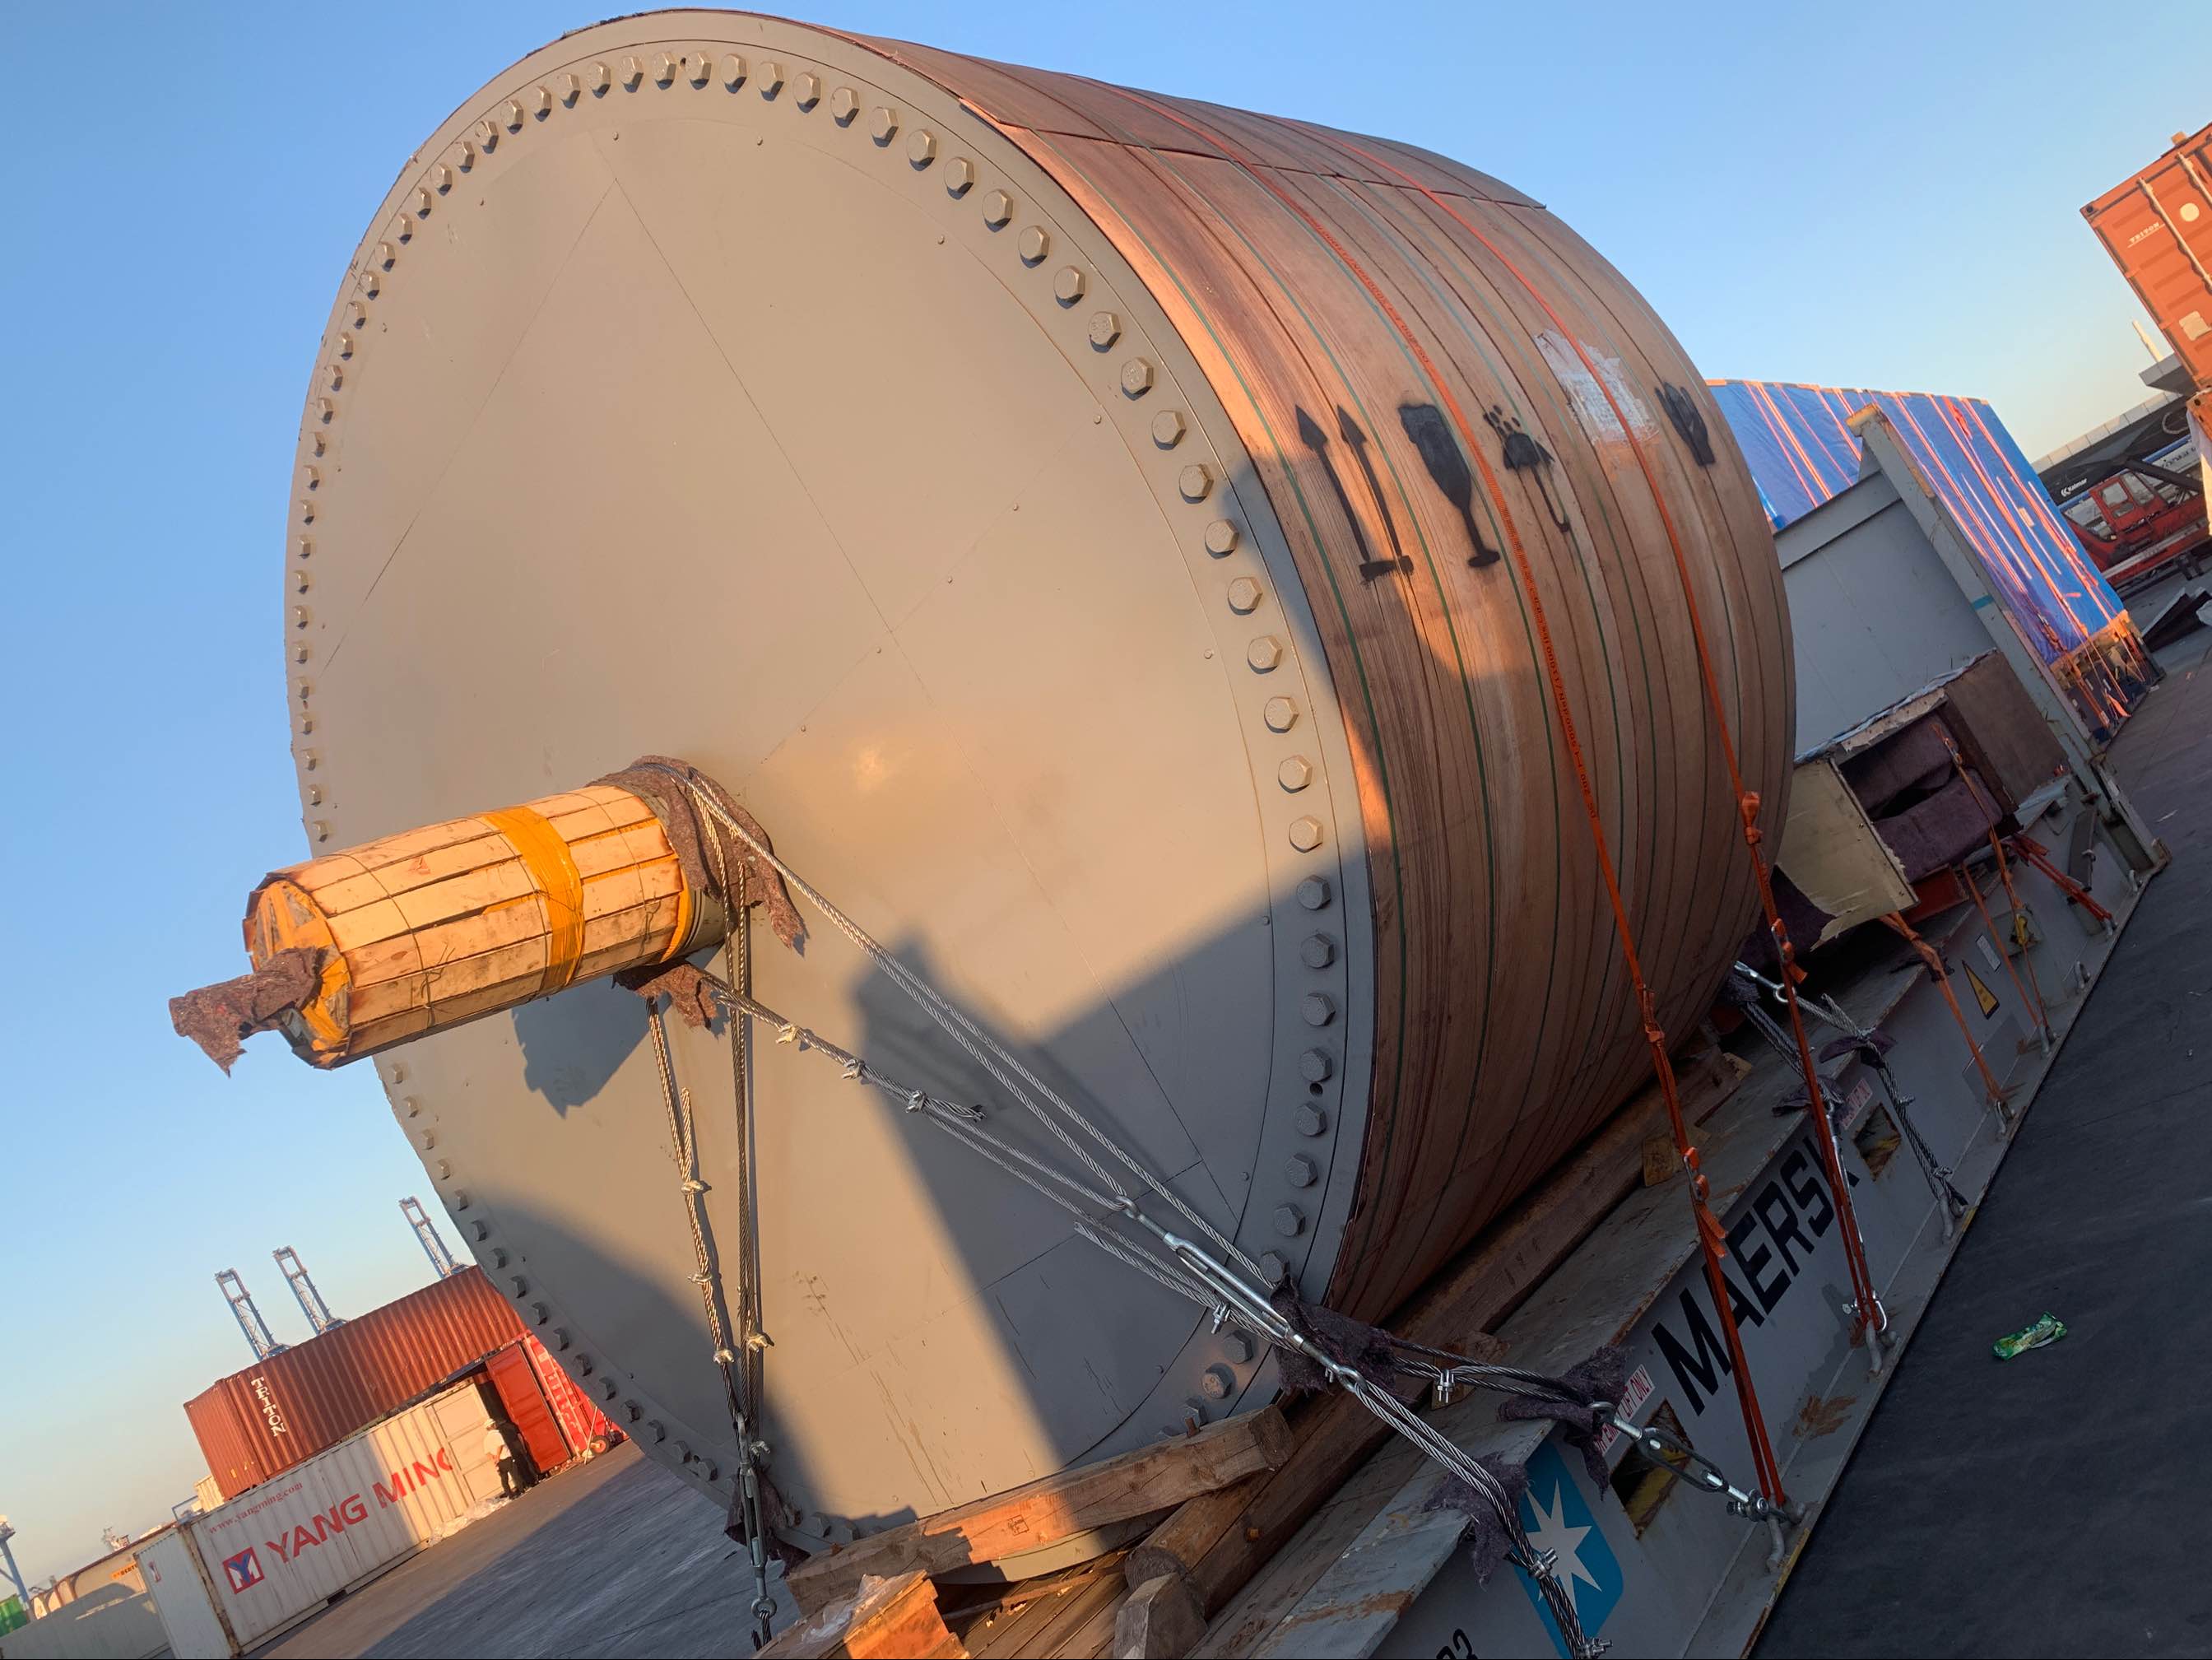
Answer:
<svg viewBox="0 0 2212 1660"><path fill-rule="evenodd" d="M310 854L681 755L1367 1317L1648 1076L1579 779L1670 1031L1752 921L1692 615L1785 806L1781 578L1701 376L1542 206L1387 139L768 18L584 29L376 210L292 496ZM763 1003L1020 1133L843 934L763 941ZM644 1020L580 983L376 1069L493 1284L728 1496ZM732 1242L726 1025L675 1060ZM763 1036L752 1091L794 1536L1272 1388L821 1056Z"/></svg>

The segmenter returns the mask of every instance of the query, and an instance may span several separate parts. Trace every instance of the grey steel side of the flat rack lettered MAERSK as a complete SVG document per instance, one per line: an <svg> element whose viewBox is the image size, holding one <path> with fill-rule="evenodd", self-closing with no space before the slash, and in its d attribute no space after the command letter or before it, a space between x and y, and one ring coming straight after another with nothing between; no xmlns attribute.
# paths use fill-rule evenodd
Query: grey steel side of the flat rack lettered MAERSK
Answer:
<svg viewBox="0 0 2212 1660"><path fill-rule="evenodd" d="M2046 832L2070 834L2062 808L2035 834ZM1973 905L1953 907L1929 934L1984 1056L2004 1073L2002 1113L1984 1098L1931 969L1905 941L1865 956L1838 996L1863 1025L1893 1038L1887 1065L1911 1096L1911 1120L1969 1204L1989 1191L2011 1127L2143 894L2117 857L2097 859L2090 894L2112 925L2086 932L2066 921L2079 907L2048 876L2015 879L2048 930L2028 947L2051 1009L2048 1051L2033 1036L2026 998L1989 961L1995 947ZM1785 1107L1798 1082L1794 1062L1761 1054L1699 1133L1728 1228L1730 1275L1743 1293L1745 1352L1787 1496L1805 1507L1801 1523L1776 1538L1719 1498L1659 1476L1626 1445L1608 1452L1608 1492L1599 1492L1551 1425L1498 1423L1495 1403L1482 1397L1438 1414L1438 1428L1473 1452L1528 1465L1535 1534L1544 1534L1537 1545L1575 1552L1584 1569L1568 1567L1577 1611L1590 1636L1619 1653L1750 1651L1893 1374L1896 1350L1911 1341L1971 1222L1969 1211L1958 1228L1944 1224L1944 1204L1898 1144L1893 1109L1871 1071L1856 1058L1829 1069L1847 1102L1838 1140L1851 1202L1896 1343L1880 1357L1851 1346L1840 1313L1849 1279L1834 1206L1805 1116ZM1637 1419L1679 1423L1699 1454L1743 1481L1750 1448L1712 1335L1679 1175L1621 1202L1498 1335L1513 1363L1535 1370L1564 1370L1601 1343L1624 1343ZM1387 1448L1223 1609L1197 1653L1564 1653L1517 1569L1475 1580L1458 1547L1458 1516L1429 1507L1438 1485L1431 1465Z"/></svg>

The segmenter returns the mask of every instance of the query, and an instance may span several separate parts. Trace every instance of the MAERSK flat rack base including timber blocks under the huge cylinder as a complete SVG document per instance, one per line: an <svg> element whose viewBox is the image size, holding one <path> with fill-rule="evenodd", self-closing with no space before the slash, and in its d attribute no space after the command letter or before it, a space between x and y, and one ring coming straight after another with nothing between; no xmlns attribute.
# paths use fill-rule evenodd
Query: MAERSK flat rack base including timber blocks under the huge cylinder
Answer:
<svg viewBox="0 0 2212 1660"><path fill-rule="evenodd" d="M1847 1025L1882 1034L1885 1065L1902 1093L1900 1102L1885 1087L1865 1047L1825 1045L1823 1080L1851 1211L1889 1315L1878 1350L1856 1341L1847 1313L1840 1213L1794 1056L1739 1034L1734 1054L1708 1051L1686 1069L1701 1116L1697 1149L1725 1228L1734 1313L1796 1521L1747 1521L1617 1434L1597 1481L1559 1428L1500 1421L1491 1394L1464 1394L1427 1414L1460 1448L1528 1470L1522 1516L1531 1540L1557 1554L1582 1625L1617 1653L1752 1649L2013 1129L2150 892L2095 808L2064 781L2024 803L2022 821L2048 850L2042 863L2015 859L2011 868L2033 919L2024 943L1997 930L1993 919L2011 907L1993 863L1984 863L1969 868L1973 899L1955 896L1920 927L1942 976L1905 936L1860 927L1832 950L1816 981ZM1717 1337L1686 1177L1679 1166L1666 1173L1668 1149L1639 1149L1637 1127L1652 1127L1648 1109L1624 1109L1584 1155L1431 1282L1416 1308L1455 1299L1473 1308L1478 1282L1495 1288L1517 1275L1509 1313L1484 1321L1509 1363L1562 1374L1608 1343L1621 1346L1621 1405L1632 1419L1661 1425L1747 1485L1747 1430ZM1962 1213L1916 1160L1911 1133L1924 1140ZM1639 1151L1644 1173L1621 1177L1621 1158L1635 1162ZM1610 1193L1626 1186L1626 1197L1593 1206L1608 1180ZM1292 1405L1294 1432L1310 1439L1312 1425L1329 1423L1329 1397ZM1301 1443L1283 1467L1102 1532L1091 1560L1051 1576L993 1585L984 1565L945 1576L945 1622L975 1656L1568 1653L1517 1567L1478 1576L1464 1547L1467 1514L1444 1494L1447 1472L1407 1441L1387 1439L1352 1461L1310 1492L1285 1527L1298 1470L1310 1483L1321 1454L1325 1448ZM914 1523L933 1525L942 1523ZM878 1536L872 1547L889 1543ZM1177 1596L1203 1618L1181 1640L1164 1642L1159 1622L1130 1618L1137 1591L1161 1574L1179 1580Z"/></svg>

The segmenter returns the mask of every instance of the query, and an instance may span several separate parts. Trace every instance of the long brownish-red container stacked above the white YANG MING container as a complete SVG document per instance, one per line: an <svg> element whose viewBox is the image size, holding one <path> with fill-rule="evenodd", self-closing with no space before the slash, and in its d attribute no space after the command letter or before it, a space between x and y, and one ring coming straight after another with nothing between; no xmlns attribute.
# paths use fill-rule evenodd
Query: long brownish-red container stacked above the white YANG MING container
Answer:
<svg viewBox="0 0 2212 1660"><path fill-rule="evenodd" d="M223 1498L389 1417L522 1335L482 1268L270 1355L184 1403Z"/></svg>

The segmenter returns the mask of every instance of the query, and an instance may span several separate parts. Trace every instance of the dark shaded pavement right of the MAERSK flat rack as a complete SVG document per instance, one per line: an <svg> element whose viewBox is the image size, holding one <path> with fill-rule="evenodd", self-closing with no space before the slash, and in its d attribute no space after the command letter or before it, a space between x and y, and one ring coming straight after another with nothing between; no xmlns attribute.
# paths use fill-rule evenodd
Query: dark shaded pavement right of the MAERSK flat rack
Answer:
<svg viewBox="0 0 2212 1660"><path fill-rule="evenodd" d="M2035 1096L1761 1656L2212 1653L2208 646L2199 631L2161 653L2168 679L2112 753L2174 863ZM2062 1343L1991 1357L2044 1310Z"/></svg>

